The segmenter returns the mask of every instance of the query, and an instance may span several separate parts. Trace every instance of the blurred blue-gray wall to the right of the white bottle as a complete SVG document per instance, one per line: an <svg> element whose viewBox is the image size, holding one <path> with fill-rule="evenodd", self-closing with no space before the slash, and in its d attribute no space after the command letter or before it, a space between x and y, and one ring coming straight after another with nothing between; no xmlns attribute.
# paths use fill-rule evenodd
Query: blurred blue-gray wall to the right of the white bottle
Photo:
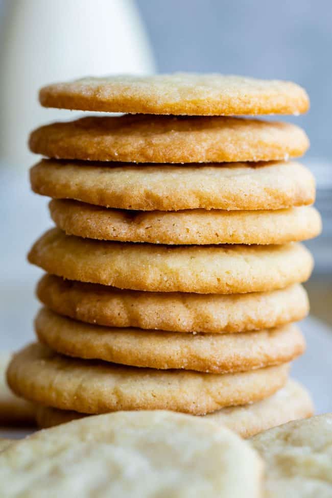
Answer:
<svg viewBox="0 0 332 498"><path fill-rule="evenodd" d="M311 138L308 157L332 159L331 0L136 0L136 4L159 72L216 71L303 85L312 109L295 122Z"/></svg>

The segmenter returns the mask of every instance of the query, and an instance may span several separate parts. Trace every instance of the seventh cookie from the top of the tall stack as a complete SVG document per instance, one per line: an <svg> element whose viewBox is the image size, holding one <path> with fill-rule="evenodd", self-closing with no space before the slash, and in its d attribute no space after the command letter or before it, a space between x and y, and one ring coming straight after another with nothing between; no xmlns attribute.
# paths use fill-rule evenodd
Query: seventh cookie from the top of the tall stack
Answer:
<svg viewBox="0 0 332 498"><path fill-rule="evenodd" d="M178 334L101 327L43 308L35 330L40 342L67 356L164 370L243 372L290 362L305 349L295 325L244 334Z"/></svg>

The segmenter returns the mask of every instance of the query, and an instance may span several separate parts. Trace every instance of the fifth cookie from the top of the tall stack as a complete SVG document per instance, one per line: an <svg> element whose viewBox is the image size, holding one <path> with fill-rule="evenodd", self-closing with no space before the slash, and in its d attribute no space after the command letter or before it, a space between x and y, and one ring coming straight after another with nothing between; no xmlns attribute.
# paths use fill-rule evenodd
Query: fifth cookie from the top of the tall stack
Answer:
<svg viewBox="0 0 332 498"><path fill-rule="evenodd" d="M34 244L29 261L69 280L120 289L200 294L271 291L309 278L310 252L281 246L158 246L93 241L58 228Z"/></svg>

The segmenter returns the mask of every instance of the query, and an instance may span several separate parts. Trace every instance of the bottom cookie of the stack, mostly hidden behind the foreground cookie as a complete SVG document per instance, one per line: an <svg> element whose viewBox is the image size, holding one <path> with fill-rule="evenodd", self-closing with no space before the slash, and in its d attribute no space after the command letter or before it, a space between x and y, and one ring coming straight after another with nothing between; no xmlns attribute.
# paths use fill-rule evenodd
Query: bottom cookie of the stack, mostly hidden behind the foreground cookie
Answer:
<svg viewBox="0 0 332 498"><path fill-rule="evenodd" d="M313 403L309 393L296 381L289 380L286 386L262 401L256 401L251 405L222 408L203 416L207 420L226 425L241 437L247 438L281 423L311 417L312 414ZM42 405L36 407L36 421L40 429L85 416L87 415L83 413Z"/></svg>

